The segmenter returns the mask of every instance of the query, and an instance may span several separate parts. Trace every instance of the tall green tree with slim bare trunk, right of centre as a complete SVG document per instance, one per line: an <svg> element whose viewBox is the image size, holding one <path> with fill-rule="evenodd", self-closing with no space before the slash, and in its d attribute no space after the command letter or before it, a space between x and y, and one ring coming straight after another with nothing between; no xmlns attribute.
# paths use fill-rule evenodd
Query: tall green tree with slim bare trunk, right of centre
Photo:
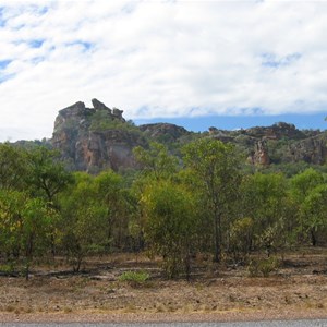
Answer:
<svg viewBox="0 0 327 327"><path fill-rule="evenodd" d="M215 261L220 262L223 225L233 209L240 183L240 160L231 144L215 138L201 138L183 149L184 164L201 183L214 230ZM227 231L227 230L226 230ZM227 238L228 232L226 233Z"/></svg>

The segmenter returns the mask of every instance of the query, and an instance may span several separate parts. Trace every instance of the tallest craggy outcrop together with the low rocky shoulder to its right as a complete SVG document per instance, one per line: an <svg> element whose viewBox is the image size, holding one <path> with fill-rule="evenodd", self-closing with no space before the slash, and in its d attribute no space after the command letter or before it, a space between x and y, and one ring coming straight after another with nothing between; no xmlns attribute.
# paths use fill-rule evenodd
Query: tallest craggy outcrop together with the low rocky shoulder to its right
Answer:
<svg viewBox="0 0 327 327"><path fill-rule="evenodd" d="M59 111L55 122L52 146L72 170L98 172L104 169L135 168L133 148L148 142L175 142L190 134L174 124L146 124L140 128L126 122L122 110L110 109L97 99L93 108L76 102Z"/></svg>

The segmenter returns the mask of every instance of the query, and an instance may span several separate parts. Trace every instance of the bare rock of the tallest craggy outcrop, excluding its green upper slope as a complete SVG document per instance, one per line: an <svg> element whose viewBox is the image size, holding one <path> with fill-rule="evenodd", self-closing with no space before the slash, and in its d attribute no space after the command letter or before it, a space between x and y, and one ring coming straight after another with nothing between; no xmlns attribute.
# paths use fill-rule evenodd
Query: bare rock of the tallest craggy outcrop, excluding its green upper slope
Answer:
<svg viewBox="0 0 327 327"><path fill-rule="evenodd" d="M134 131L109 129L90 130L95 112L102 110L106 117L125 123L122 110L111 110L97 99L92 100L94 108L76 102L59 111L55 122L52 146L58 148L62 158L73 170L98 172L102 169L135 167L133 148L145 141Z"/></svg>

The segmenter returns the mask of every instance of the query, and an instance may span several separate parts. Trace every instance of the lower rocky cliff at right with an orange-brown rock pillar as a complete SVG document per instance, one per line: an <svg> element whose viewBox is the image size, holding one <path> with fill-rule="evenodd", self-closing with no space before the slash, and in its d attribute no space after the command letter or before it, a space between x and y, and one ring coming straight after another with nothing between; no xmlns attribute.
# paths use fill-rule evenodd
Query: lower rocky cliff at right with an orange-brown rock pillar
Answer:
<svg viewBox="0 0 327 327"><path fill-rule="evenodd" d="M223 131L209 128L210 137L231 142L254 166L305 161L327 162L327 132L300 131L293 124L279 122L271 126Z"/></svg>

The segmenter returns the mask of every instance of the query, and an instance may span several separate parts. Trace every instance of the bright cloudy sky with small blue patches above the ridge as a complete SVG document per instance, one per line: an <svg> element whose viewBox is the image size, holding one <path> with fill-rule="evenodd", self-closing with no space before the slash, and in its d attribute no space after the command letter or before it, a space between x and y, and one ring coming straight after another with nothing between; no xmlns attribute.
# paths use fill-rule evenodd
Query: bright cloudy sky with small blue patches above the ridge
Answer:
<svg viewBox="0 0 327 327"><path fill-rule="evenodd" d="M0 141L50 137L60 109L92 98L195 130L326 125L326 16L323 0L0 0Z"/></svg>

